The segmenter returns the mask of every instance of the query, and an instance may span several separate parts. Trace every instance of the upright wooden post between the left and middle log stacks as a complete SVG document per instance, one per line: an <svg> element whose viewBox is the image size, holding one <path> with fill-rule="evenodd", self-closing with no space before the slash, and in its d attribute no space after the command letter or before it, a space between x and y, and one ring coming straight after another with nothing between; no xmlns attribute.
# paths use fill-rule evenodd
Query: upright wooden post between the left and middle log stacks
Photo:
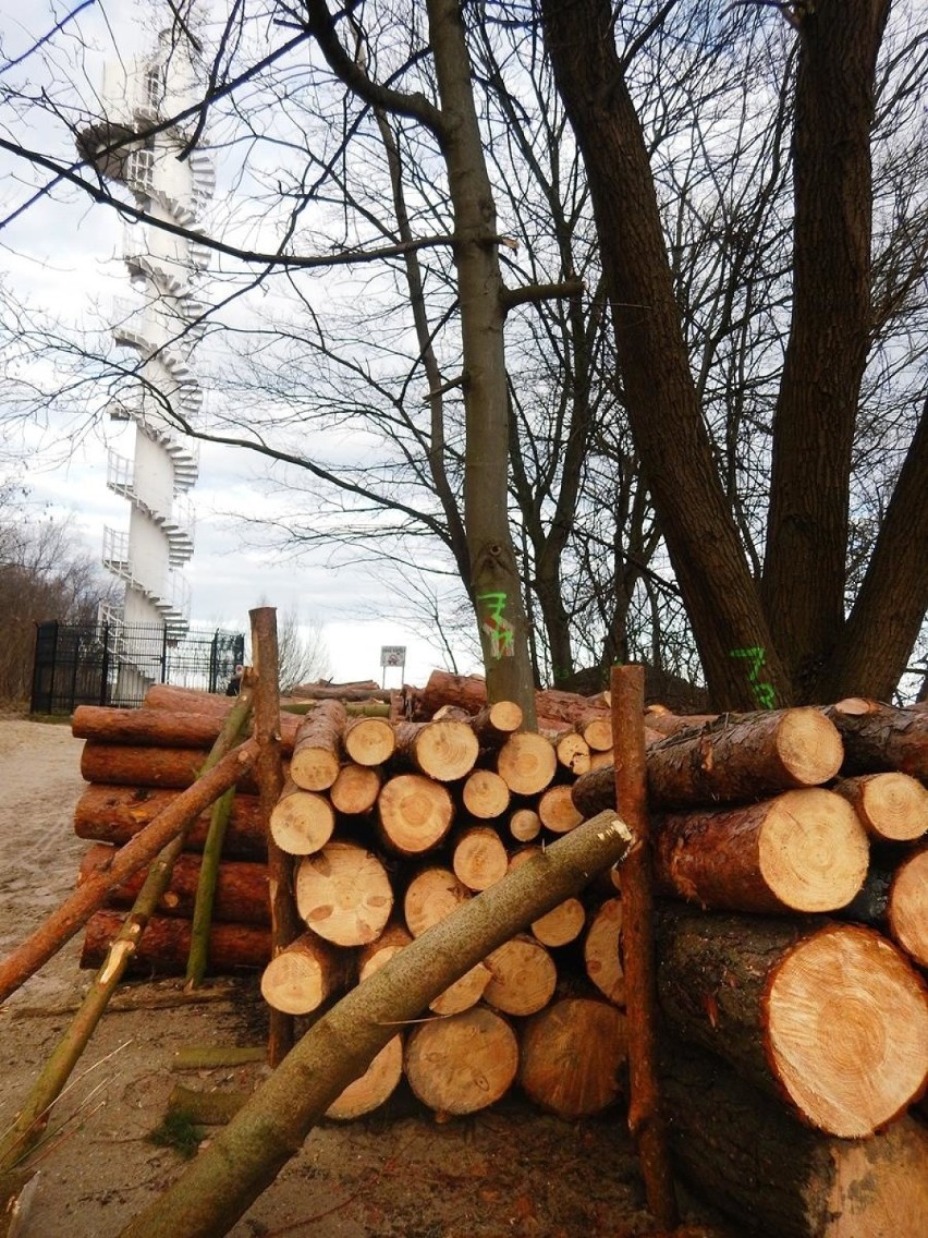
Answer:
<svg viewBox="0 0 928 1238"><path fill-rule="evenodd" d="M293 858L271 834L271 812L283 790L281 761L281 690L277 612L259 607L249 612L254 659L255 727L259 745L255 774L261 825L267 838L267 875L271 900L271 957L286 950L303 931L293 899ZM270 1010L267 1061L280 1066L293 1047L293 1016Z"/></svg>

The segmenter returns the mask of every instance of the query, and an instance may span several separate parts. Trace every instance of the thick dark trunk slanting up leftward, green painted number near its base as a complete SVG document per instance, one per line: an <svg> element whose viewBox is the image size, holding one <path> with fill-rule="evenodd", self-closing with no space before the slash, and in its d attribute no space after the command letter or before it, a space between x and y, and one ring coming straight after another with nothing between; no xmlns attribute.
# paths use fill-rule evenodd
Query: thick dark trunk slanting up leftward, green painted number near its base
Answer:
<svg viewBox="0 0 928 1238"><path fill-rule="evenodd" d="M583 151L625 406L719 708L791 702L719 482L689 371L648 152L609 0L542 0L558 90Z"/></svg>

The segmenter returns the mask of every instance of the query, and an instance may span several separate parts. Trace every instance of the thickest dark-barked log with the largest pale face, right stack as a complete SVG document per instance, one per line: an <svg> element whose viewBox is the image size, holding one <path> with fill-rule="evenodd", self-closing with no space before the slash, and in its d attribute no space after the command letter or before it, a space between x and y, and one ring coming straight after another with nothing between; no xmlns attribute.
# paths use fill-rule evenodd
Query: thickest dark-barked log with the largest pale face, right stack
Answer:
<svg viewBox="0 0 928 1238"><path fill-rule="evenodd" d="M928 990L857 925L664 914L658 992L673 1030L827 1134L865 1138L928 1080Z"/></svg>

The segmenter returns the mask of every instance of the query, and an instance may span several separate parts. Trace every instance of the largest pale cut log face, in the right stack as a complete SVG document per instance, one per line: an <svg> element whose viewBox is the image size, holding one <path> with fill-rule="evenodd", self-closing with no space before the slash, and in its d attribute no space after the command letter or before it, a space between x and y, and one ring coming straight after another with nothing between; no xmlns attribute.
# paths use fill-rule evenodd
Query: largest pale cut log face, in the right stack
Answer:
<svg viewBox="0 0 928 1238"><path fill-rule="evenodd" d="M845 1139L897 1117L928 1077L928 993L879 933L831 926L773 969L767 1054L799 1113Z"/></svg>

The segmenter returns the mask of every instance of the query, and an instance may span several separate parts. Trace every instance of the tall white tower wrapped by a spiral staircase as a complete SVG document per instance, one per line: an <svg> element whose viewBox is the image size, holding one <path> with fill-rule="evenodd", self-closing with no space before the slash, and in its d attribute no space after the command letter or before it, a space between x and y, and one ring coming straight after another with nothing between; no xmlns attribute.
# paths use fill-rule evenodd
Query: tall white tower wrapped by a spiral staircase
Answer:
<svg viewBox="0 0 928 1238"><path fill-rule="evenodd" d="M174 42L173 31L163 32L151 54L105 67L103 119L78 142L82 155L124 183L146 214L184 228L195 225L215 181L204 151L184 155L198 114L152 130L197 103L198 77L188 40ZM163 624L176 639L189 623L182 568L193 555L193 521L184 496L197 482L198 454L176 437L168 413L189 420L203 402L191 354L203 334L194 281L208 251L182 235L134 224L126 227L124 256L134 296L115 305L113 335L139 354L137 386L108 411L135 423L135 456L109 456L106 484L129 499L130 516L127 532L104 530L103 561L125 582L119 618L126 629ZM126 638L130 654L127 631Z"/></svg>

